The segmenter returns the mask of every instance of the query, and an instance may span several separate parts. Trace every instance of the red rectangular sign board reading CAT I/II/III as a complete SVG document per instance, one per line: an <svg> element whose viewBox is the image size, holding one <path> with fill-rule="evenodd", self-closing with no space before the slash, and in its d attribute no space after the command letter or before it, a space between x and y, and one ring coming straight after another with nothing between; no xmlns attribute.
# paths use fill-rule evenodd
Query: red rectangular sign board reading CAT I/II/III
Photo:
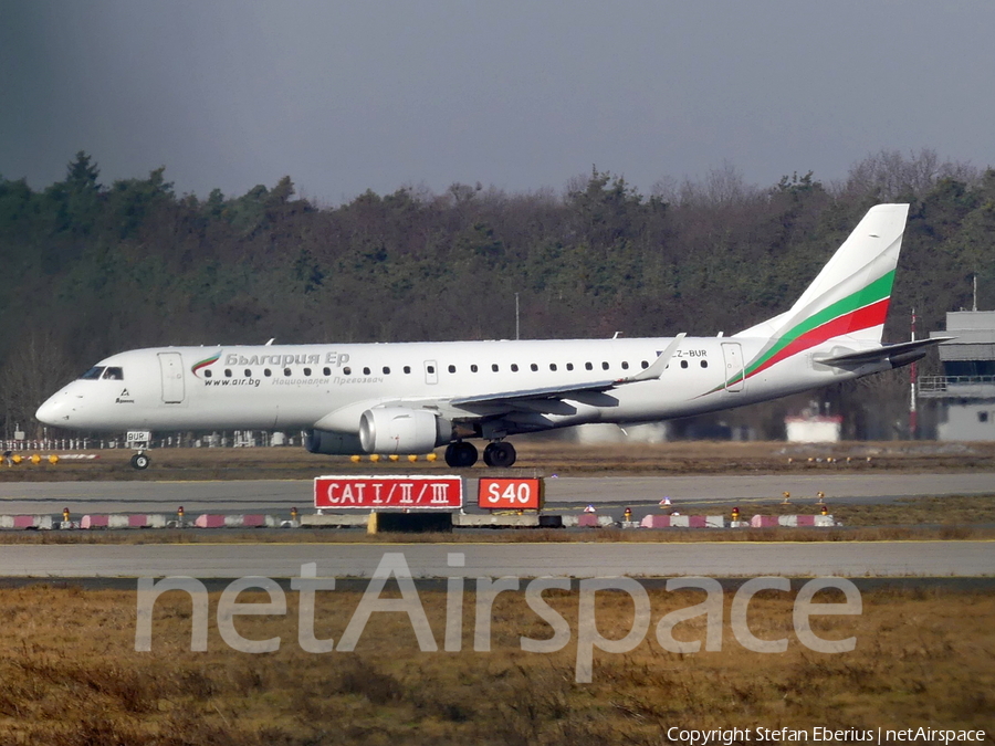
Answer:
<svg viewBox="0 0 995 746"><path fill-rule="evenodd" d="M459 476L316 476L314 506L331 508L436 509L463 506Z"/></svg>

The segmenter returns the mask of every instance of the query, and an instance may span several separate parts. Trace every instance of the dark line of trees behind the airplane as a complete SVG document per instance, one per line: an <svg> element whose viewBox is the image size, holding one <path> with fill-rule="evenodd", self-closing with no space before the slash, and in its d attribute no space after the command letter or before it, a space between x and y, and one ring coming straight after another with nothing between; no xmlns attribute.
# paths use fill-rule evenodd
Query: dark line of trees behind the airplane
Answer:
<svg viewBox="0 0 995 746"><path fill-rule="evenodd" d="M913 306L921 330L971 307L975 275L995 307L995 169L932 150L874 154L838 183L758 187L725 166L642 195L595 167L559 193L454 183L338 206L295 199L290 177L206 199L165 168L104 185L81 151L41 190L0 176L0 417L31 423L135 347L510 338L516 296L523 338L732 334L786 309L883 201L912 206L887 340ZM900 411L899 376L872 386L830 398ZM751 412L776 434L782 409Z"/></svg>

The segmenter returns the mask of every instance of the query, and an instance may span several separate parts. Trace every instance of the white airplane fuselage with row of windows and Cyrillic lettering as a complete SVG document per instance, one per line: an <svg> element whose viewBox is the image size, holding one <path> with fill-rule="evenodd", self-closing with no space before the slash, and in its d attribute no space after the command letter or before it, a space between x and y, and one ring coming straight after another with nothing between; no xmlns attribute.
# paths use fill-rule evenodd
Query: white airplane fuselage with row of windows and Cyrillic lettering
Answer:
<svg viewBox="0 0 995 746"><path fill-rule="evenodd" d="M622 378L652 364L671 342L639 338L138 349L97 364L105 370L121 368L121 379L75 380L45 402L38 417L75 430L317 428L358 433L363 411L394 401L423 401L425 407L447 417L444 406L432 403L442 396ZM520 431L699 414L870 372L813 365L808 354L743 380L744 361L767 343L766 338L685 337L659 379L610 391L580 391L551 401L548 407L535 409L555 411L517 416ZM848 347L860 349L861 345ZM214 355L219 356L217 361L191 370L198 361ZM876 369L888 367L879 365ZM731 379L736 380L727 385ZM478 409L485 410L486 404ZM451 417L459 419L458 413Z"/></svg>

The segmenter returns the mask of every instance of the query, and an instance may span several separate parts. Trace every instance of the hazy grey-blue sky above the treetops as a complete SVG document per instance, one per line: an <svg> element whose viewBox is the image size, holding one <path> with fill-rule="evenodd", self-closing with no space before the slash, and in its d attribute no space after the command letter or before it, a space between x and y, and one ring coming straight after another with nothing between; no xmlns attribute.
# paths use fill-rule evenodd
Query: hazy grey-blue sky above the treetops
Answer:
<svg viewBox="0 0 995 746"><path fill-rule="evenodd" d="M995 164L995 2L0 0L0 175L166 166L228 196L290 175L643 192L730 164L826 181L881 149Z"/></svg>

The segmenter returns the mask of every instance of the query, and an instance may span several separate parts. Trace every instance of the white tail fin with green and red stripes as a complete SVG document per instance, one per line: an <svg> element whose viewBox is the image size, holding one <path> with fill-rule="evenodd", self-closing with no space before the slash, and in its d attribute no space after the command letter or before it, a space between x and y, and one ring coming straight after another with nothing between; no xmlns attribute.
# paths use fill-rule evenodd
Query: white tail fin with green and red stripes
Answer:
<svg viewBox="0 0 995 746"><path fill-rule="evenodd" d="M747 375L837 337L880 345L908 213L872 207L790 311L735 335L769 337Z"/></svg>

